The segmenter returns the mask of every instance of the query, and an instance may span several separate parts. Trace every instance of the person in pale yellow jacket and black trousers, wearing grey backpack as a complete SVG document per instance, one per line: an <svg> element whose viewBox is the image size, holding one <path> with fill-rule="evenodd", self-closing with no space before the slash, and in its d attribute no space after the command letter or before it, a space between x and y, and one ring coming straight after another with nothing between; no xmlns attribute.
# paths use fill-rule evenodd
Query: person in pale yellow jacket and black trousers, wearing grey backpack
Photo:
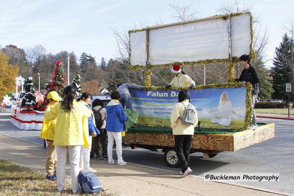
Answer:
<svg viewBox="0 0 294 196"><path fill-rule="evenodd" d="M174 106L171 114L171 128L173 128L173 135L175 137L175 151L182 168L180 174L185 177L192 172L189 166L189 154L194 135L194 127L196 127L198 123L198 118L195 107L190 103L189 93L187 91L180 91L178 98L179 103ZM183 124L181 121L184 110L188 105L190 105L190 108L193 108L195 113L194 125Z"/></svg>

